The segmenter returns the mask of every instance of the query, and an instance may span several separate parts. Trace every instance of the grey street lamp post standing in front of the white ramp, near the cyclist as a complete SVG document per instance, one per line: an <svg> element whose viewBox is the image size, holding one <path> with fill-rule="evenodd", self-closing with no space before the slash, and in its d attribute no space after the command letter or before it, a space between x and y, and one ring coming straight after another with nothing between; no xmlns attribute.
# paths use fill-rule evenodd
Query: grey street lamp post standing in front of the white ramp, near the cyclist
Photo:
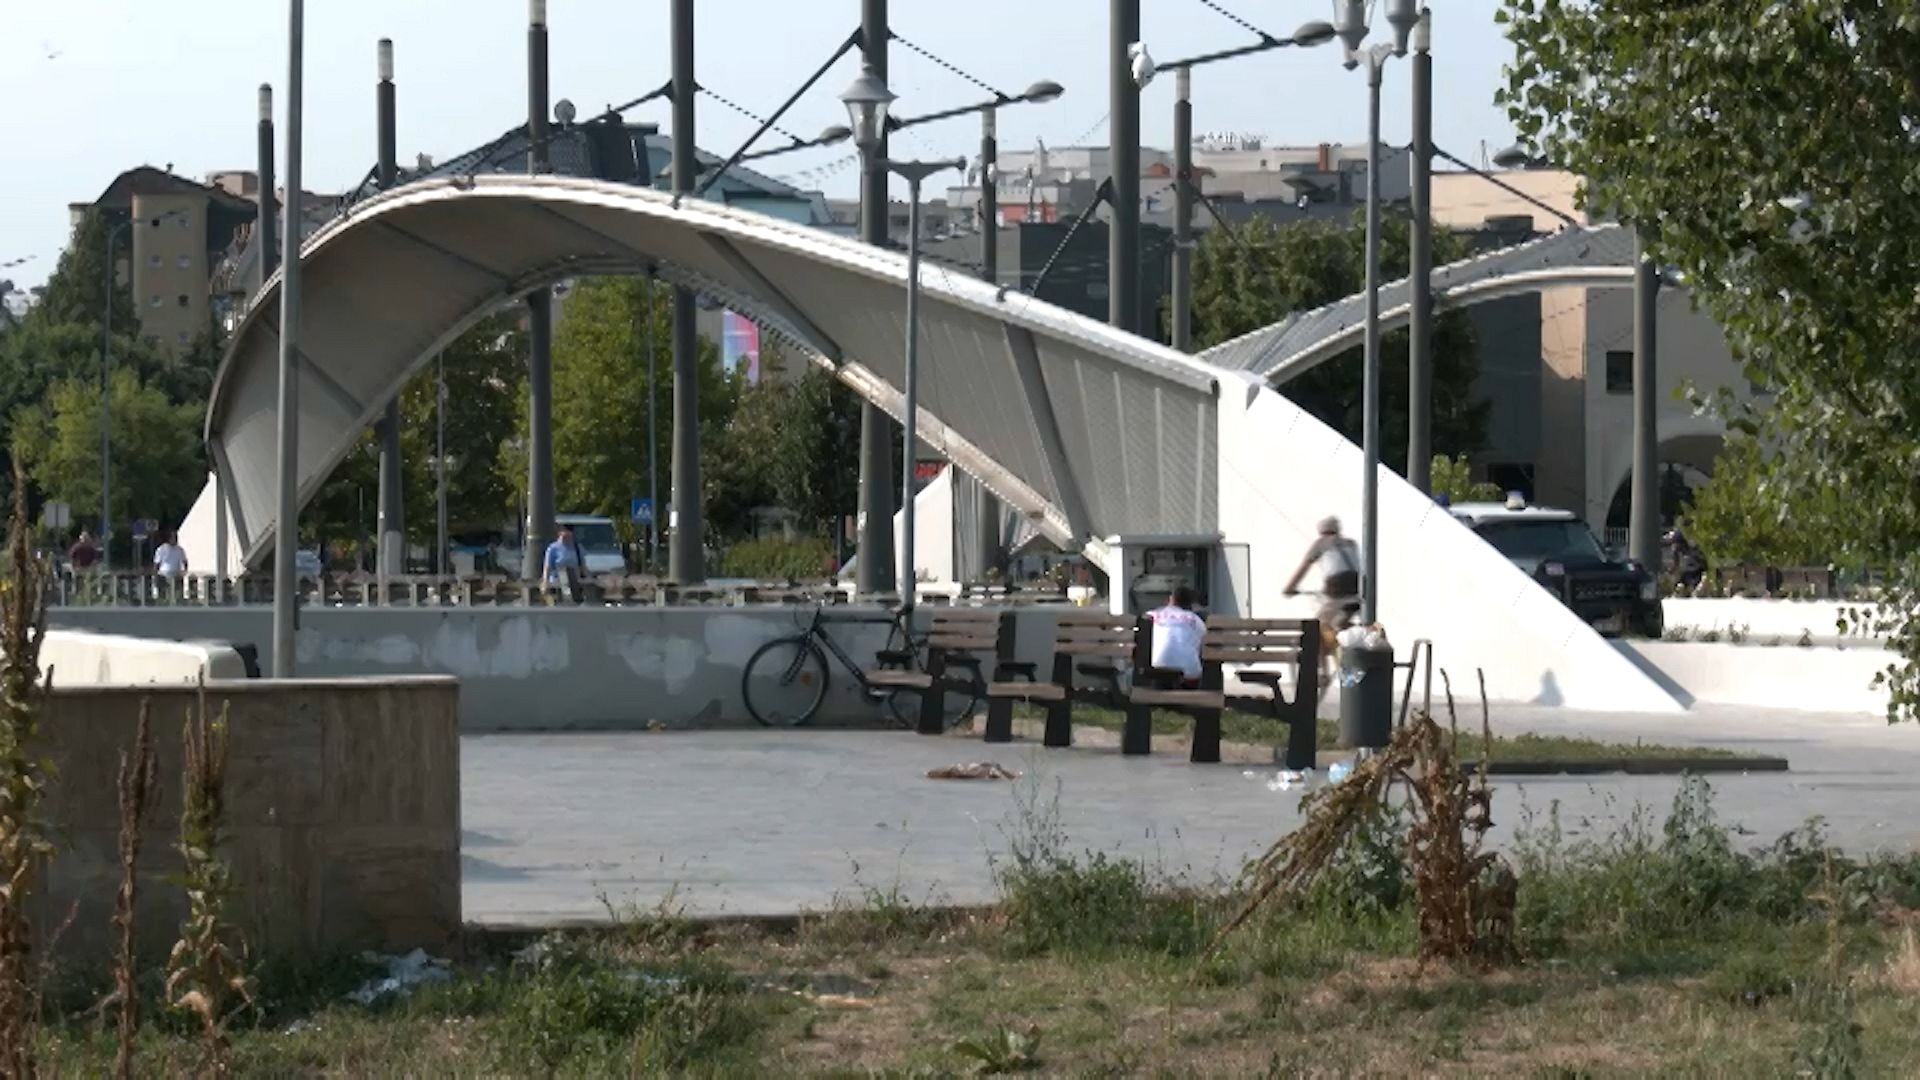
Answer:
<svg viewBox="0 0 1920 1080"><path fill-rule="evenodd" d="M1394 42L1363 48L1365 0L1346 0L1334 33L1346 42L1348 69L1367 65L1367 332L1361 386L1361 592L1359 619L1380 615L1380 73L1394 56L1407 54L1407 37L1419 23L1413 0L1388 0L1386 21Z"/></svg>

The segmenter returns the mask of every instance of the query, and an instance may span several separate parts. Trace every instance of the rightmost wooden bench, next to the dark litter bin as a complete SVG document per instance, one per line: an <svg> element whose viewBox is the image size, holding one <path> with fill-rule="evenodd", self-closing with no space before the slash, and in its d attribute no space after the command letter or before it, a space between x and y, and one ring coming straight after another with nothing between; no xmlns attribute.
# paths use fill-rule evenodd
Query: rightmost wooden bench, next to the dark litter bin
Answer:
<svg viewBox="0 0 1920 1080"><path fill-rule="evenodd" d="M1236 678L1267 686L1271 696L1229 694L1225 665L1294 665L1294 698L1281 694L1283 671L1238 671ZM1229 707L1263 713L1286 724L1288 769L1311 769L1317 721L1313 707L1319 698L1321 638L1313 619L1236 619L1215 615L1208 619L1200 642L1200 686L1179 688L1181 673L1148 665L1135 669L1133 690L1127 692L1127 723L1121 730L1121 753L1152 753L1154 709L1171 709L1194 719L1192 753L1188 761L1213 765L1219 761L1221 713Z"/></svg>

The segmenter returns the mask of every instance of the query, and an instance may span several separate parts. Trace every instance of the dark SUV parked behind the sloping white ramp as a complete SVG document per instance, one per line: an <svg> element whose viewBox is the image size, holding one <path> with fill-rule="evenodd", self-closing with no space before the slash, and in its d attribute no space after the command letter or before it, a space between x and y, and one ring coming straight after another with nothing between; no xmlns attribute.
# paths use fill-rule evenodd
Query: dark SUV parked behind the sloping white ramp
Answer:
<svg viewBox="0 0 1920 1080"><path fill-rule="evenodd" d="M1655 573L1615 557L1572 511L1519 498L1459 503L1452 511L1601 634L1659 638L1667 630Z"/></svg>

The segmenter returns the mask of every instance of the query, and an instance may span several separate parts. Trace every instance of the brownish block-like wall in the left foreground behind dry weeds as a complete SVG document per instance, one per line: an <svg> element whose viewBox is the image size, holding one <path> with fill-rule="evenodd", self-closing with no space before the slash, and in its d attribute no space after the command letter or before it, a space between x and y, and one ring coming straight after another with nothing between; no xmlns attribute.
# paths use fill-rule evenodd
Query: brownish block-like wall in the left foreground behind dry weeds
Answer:
<svg viewBox="0 0 1920 1080"><path fill-rule="evenodd" d="M58 780L42 813L58 853L36 896L42 932L73 911L58 955L104 955L119 888L115 776L142 703L152 707L159 790L140 853L146 963L179 936L184 686L54 688L40 734ZM230 913L253 955L445 947L461 926L459 686L449 678L211 682L230 707L227 773ZM77 905L77 907L75 907Z"/></svg>

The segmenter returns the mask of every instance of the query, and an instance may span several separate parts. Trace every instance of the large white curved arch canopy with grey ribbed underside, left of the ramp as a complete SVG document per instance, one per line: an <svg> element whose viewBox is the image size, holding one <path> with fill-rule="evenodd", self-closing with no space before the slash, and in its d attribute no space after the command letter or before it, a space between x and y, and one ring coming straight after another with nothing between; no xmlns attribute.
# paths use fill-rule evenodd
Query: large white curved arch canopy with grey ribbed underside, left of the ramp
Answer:
<svg viewBox="0 0 1920 1080"><path fill-rule="evenodd" d="M906 258L818 229L632 184L478 177L372 198L301 252L301 505L436 352L574 277L693 286L900 411ZM234 332L207 411L248 563L275 528L278 284ZM1213 527L1210 365L943 267L922 267L922 290L927 444L1062 546Z"/></svg>

